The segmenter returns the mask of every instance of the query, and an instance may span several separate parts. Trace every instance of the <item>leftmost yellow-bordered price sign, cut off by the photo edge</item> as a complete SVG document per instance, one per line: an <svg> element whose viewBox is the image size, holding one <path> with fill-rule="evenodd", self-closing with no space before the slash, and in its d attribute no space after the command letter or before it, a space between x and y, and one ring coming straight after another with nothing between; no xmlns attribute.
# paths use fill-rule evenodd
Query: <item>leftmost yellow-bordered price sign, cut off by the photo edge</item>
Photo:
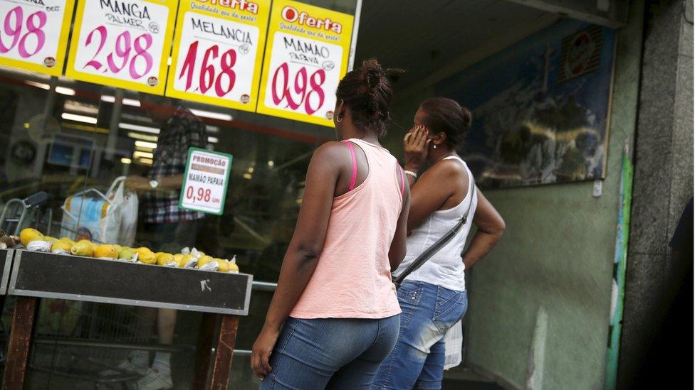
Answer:
<svg viewBox="0 0 695 390"><path fill-rule="evenodd" d="M0 0L0 65L63 73L73 0Z"/></svg>

